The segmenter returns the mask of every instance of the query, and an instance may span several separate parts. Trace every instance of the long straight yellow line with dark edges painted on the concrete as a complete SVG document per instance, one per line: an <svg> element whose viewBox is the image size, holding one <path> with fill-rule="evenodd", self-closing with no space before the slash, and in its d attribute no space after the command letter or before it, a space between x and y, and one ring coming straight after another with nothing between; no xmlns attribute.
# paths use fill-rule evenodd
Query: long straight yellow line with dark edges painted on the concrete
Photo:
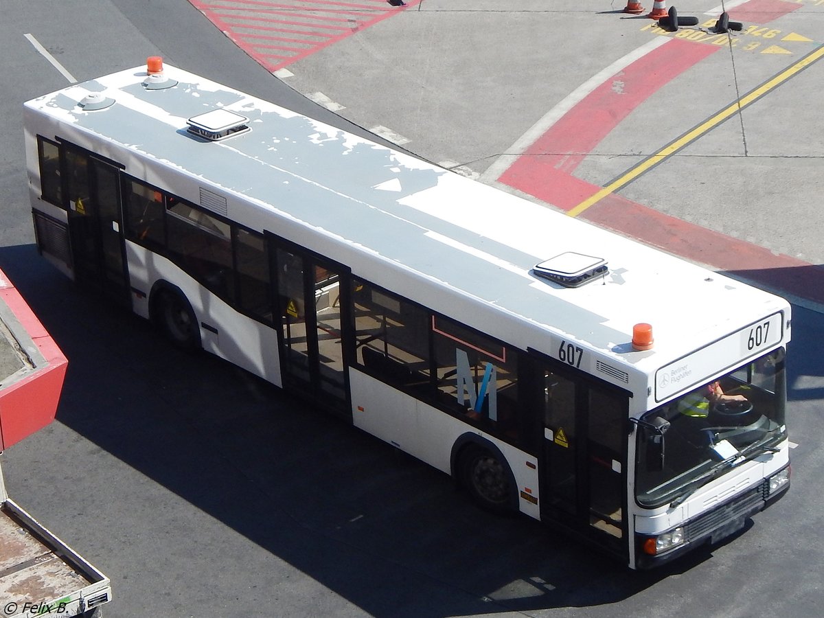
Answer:
<svg viewBox="0 0 824 618"><path fill-rule="evenodd" d="M735 101L733 104L728 105L723 110L719 111L718 114L705 120L703 123L695 127L695 129L692 129L691 131L682 135L680 138L677 138L674 142L663 147L661 150L653 154L651 157L644 159L644 161L640 162L637 166L631 168L630 171L627 171L623 176L620 176L616 180L613 180L609 185L606 185L602 190L599 190L596 194L592 195L588 199L584 199L583 202L581 202L571 210L567 211L567 215L569 217L577 217L590 206L593 206L594 204L600 202L602 199L606 198L607 195L611 195L615 193L617 190L620 190L625 185L629 185L630 182L641 176L645 171L648 171L653 166L657 166L658 163L663 162L665 159L667 159L667 157L672 157L672 155L681 150L681 148L688 146L690 143L694 142L696 139L704 135L704 133L708 133L711 129L714 129L716 126L723 123L724 120L728 119L736 112L743 110L745 107L747 107L747 105L750 105L755 101L758 101L762 96L765 96L765 94L767 94L774 88L779 87L781 84L786 82L790 77L794 77L794 75L796 75L798 72L802 71L804 68L807 68L812 63L821 59L822 56L824 56L824 46L817 47L810 54L807 54L802 59L798 60L797 63L794 63L793 65L784 69L784 71L782 71L775 77L772 77L771 79L767 80L766 82L761 84L761 86L756 87L755 90L750 91L747 95L742 96L742 98L738 101Z"/></svg>

